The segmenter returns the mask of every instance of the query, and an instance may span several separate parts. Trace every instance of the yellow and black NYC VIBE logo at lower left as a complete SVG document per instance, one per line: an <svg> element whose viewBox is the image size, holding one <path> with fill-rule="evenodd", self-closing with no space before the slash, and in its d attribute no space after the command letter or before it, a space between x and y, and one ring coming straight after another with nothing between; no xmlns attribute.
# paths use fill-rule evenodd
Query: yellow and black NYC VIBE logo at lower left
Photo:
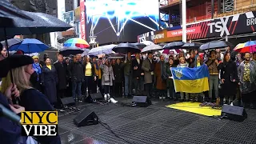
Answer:
<svg viewBox="0 0 256 144"><path fill-rule="evenodd" d="M22 135L56 136L58 111L22 111Z"/></svg>

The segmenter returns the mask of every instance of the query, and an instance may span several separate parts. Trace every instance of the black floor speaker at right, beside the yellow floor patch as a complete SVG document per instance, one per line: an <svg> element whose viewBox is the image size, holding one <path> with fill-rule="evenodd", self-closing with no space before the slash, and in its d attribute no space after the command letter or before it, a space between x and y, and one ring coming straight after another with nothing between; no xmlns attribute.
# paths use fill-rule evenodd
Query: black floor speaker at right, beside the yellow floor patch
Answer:
<svg viewBox="0 0 256 144"><path fill-rule="evenodd" d="M247 113L243 107L223 105L222 118L227 118L233 121L242 122L247 118Z"/></svg>

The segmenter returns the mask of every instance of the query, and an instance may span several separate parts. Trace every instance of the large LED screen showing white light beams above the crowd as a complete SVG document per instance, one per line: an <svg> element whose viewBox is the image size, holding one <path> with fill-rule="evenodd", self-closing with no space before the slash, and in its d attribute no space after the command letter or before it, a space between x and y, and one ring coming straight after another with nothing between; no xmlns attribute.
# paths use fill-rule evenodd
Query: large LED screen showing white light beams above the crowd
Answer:
<svg viewBox="0 0 256 144"><path fill-rule="evenodd" d="M137 42L139 34L158 30L158 0L86 0L86 39L99 44Z"/></svg>

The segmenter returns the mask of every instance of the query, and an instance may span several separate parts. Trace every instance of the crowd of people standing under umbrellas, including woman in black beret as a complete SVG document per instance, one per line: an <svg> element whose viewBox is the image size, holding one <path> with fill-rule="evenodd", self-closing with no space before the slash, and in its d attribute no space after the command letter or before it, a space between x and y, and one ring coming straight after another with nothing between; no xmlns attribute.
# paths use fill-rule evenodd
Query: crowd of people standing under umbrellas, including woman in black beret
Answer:
<svg viewBox="0 0 256 144"><path fill-rule="evenodd" d="M75 101L81 102L90 94L99 92L108 102L117 102L114 99L117 97L146 95L148 98L181 102L214 102L216 98L221 98L226 104L242 98L243 106L256 106L255 52L237 54L227 48L224 53L210 50L203 55L198 54L198 50L190 50L186 54L181 51L176 55L172 51L169 55L159 56L151 52L134 56L129 52L126 55L127 58L112 59L81 54L64 58L58 54L58 61L51 62L48 54L40 60L38 56L31 58L18 51L10 56L12 74L9 72L2 78L0 90L5 96L1 94L1 103L6 102L6 106L16 113L24 109L54 110L54 107L62 107L61 98L72 96ZM6 56L6 49L1 46L0 62ZM208 66L209 91L177 93L170 69L202 65ZM11 93L16 98L12 98ZM7 102L7 99L13 101ZM14 99L18 103L9 105L14 103ZM6 122L6 119L0 119ZM50 143L59 141L59 137L38 140Z"/></svg>

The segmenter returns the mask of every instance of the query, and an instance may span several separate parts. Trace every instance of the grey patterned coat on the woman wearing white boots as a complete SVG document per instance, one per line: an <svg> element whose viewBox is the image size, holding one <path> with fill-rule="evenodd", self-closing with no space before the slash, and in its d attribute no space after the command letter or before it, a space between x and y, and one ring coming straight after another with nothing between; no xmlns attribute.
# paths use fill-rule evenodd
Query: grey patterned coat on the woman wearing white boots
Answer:
<svg viewBox="0 0 256 144"><path fill-rule="evenodd" d="M112 66L102 65L102 86L113 86L114 73Z"/></svg>

